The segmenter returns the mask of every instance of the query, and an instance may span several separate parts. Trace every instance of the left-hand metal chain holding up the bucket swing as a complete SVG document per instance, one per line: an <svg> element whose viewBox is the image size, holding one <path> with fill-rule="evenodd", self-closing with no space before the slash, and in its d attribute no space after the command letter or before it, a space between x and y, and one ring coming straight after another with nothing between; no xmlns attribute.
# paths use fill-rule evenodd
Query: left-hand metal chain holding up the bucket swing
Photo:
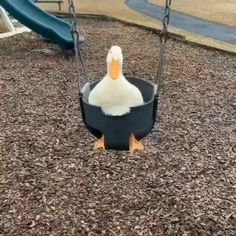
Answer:
<svg viewBox="0 0 236 236"><path fill-rule="evenodd" d="M74 0L68 0L68 4L69 4L69 13L71 16L71 24L72 24L71 34L72 34L72 38L73 38L73 42L74 42L74 50L75 50L75 58L76 58L76 66L77 66L78 90L79 90L79 94L81 94L81 84L80 84L80 75L79 75L80 65L79 64L81 64L81 66L82 66L82 70L83 70L83 74L84 74L84 78L85 78L86 83L88 82L88 77L87 77L85 64L84 64L83 56L82 56L81 49L80 49L80 42L79 42L80 34L79 34L79 27L77 24L77 16L75 13Z"/></svg>

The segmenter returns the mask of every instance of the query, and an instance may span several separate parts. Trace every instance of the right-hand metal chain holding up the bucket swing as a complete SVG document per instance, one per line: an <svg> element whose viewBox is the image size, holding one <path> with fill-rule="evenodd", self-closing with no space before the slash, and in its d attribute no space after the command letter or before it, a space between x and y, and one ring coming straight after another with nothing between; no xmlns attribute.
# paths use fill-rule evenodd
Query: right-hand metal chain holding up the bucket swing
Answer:
<svg viewBox="0 0 236 236"><path fill-rule="evenodd" d="M160 53L159 53L159 65L158 65L158 71L157 71L157 78L156 78L156 84L157 84L157 92L156 95L159 95L160 92L160 83L161 83L161 76L163 73L163 63L164 63L164 49L165 44L168 38L168 24L170 21L170 6L171 6L171 0L166 0L165 5L165 12L164 12L164 18L162 20L162 31L160 33Z"/></svg>

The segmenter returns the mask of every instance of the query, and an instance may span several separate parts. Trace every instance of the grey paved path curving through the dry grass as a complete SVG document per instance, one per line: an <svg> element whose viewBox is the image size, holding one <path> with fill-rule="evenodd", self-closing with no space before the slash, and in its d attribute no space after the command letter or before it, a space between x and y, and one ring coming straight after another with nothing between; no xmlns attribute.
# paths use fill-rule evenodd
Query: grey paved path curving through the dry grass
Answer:
<svg viewBox="0 0 236 236"><path fill-rule="evenodd" d="M144 15L161 20L164 8L147 0L126 0L127 6ZM177 11L171 11L170 25L203 36L236 45L236 27L209 22Z"/></svg>

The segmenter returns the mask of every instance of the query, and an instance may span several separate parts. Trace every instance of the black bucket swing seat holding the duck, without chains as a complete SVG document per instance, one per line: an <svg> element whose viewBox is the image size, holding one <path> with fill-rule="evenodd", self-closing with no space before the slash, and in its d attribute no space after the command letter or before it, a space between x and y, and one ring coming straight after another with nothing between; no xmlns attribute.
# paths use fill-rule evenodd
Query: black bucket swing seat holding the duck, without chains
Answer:
<svg viewBox="0 0 236 236"><path fill-rule="evenodd" d="M128 150L129 137L133 133L137 140L144 138L152 130L158 106L157 86L151 82L134 77L126 77L142 93L144 104L132 107L123 116L105 115L101 107L88 103L90 91L99 82L88 84L82 89L80 106L85 126L96 138L104 135L106 149Z"/></svg>

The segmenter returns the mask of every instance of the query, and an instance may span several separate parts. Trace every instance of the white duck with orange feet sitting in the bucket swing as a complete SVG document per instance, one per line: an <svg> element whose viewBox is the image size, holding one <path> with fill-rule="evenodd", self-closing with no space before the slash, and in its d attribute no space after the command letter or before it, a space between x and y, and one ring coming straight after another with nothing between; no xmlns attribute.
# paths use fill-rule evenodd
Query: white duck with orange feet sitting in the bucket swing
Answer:
<svg viewBox="0 0 236 236"><path fill-rule="evenodd" d="M132 107L144 104L142 93L123 75L123 53L119 46L110 48L106 63L107 73L91 90L88 103L101 107L107 116L124 116L130 113ZM104 135L94 144L94 149L99 148L105 150ZM131 152L144 149L134 134L129 137L129 149Z"/></svg>

